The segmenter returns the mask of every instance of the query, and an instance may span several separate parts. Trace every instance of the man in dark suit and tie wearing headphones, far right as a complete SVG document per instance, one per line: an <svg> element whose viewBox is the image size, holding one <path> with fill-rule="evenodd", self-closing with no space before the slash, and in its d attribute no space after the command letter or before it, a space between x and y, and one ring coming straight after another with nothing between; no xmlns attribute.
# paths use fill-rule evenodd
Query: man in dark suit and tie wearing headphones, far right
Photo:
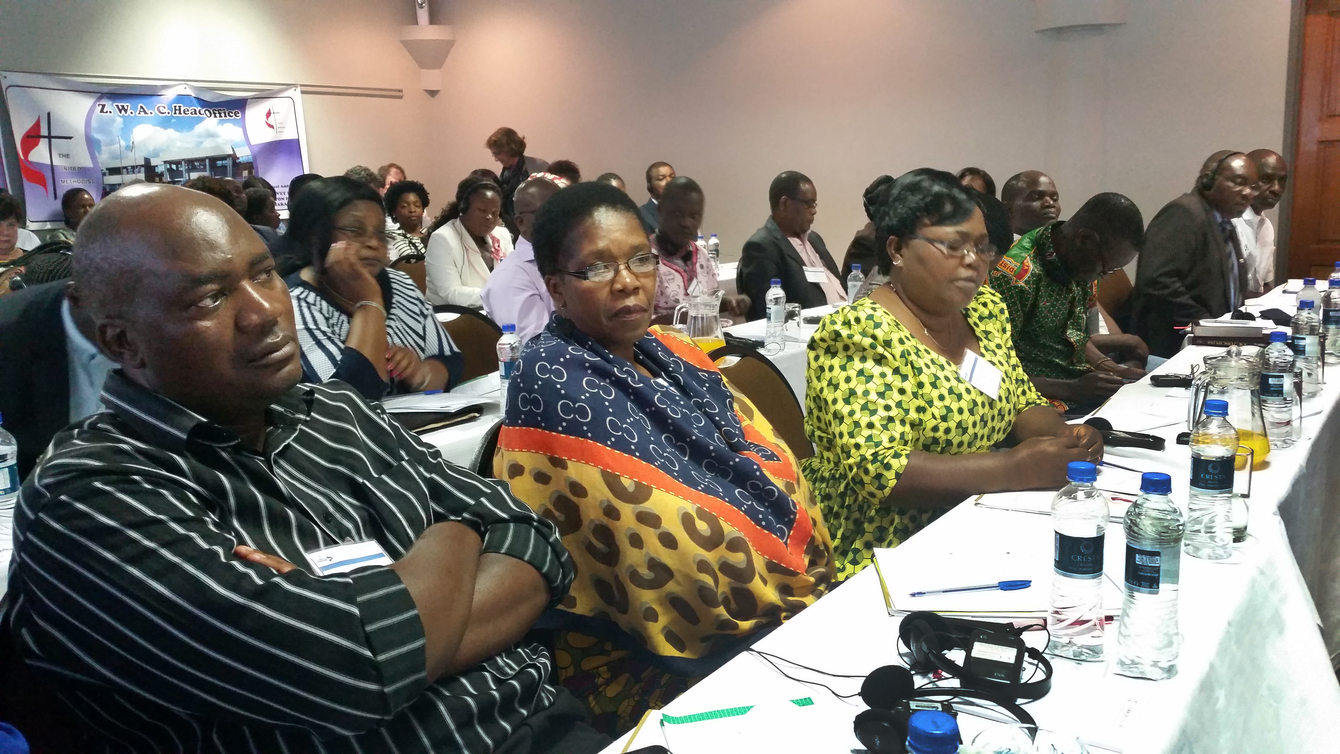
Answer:
<svg viewBox="0 0 1340 754"><path fill-rule="evenodd" d="M1256 184L1246 154L1217 152L1201 168L1195 189L1150 220L1131 294L1131 330L1151 354L1178 352L1182 335L1174 327L1242 306L1248 264L1233 219L1252 205Z"/></svg>

